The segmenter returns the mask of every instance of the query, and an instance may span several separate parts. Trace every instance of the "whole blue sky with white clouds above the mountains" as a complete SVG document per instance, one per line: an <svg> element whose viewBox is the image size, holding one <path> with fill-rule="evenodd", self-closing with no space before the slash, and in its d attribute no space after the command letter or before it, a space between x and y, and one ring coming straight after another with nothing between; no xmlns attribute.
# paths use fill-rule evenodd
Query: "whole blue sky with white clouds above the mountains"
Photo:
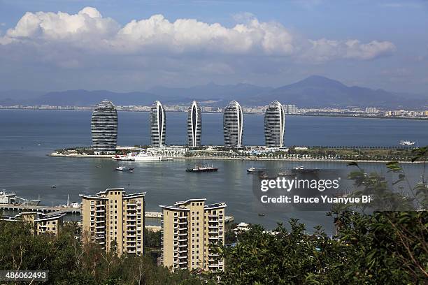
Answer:
<svg viewBox="0 0 428 285"><path fill-rule="evenodd" d="M0 90L280 87L310 75L428 94L428 1L0 0Z"/></svg>

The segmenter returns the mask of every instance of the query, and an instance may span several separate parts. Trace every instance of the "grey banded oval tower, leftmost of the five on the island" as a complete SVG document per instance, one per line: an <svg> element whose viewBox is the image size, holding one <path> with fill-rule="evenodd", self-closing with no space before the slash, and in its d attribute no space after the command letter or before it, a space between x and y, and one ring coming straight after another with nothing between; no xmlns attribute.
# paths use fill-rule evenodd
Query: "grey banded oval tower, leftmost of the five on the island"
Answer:
<svg viewBox="0 0 428 285"><path fill-rule="evenodd" d="M117 110L104 100L92 111L92 149L94 154L114 154L117 145Z"/></svg>

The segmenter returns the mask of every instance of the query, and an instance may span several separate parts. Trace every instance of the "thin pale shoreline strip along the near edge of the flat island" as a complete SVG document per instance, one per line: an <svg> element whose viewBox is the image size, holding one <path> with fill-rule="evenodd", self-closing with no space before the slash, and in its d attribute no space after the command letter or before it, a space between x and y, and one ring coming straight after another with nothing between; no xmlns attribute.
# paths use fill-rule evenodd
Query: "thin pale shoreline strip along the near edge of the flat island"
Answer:
<svg viewBox="0 0 428 285"><path fill-rule="evenodd" d="M80 158L80 159L111 159L112 155L94 155L94 154L46 154L47 156L52 157L71 157L71 158ZM172 159L180 159L180 160L237 160L237 161L303 161L303 162L360 162L360 163L387 163L392 160L385 161L376 161L376 160L364 160L364 159L273 159L273 158L257 158L252 159L249 157L211 157L211 156L197 156L197 157L185 157L185 156L174 156ZM153 162L153 161L148 161ZM427 161L398 161L399 163L425 163Z"/></svg>

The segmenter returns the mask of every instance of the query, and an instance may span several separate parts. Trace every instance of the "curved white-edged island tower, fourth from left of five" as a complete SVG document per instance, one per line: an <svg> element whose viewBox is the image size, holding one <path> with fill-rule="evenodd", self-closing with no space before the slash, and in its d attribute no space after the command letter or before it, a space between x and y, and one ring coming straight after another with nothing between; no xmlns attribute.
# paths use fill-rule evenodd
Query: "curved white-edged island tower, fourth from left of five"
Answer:
<svg viewBox="0 0 428 285"><path fill-rule="evenodd" d="M231 101L224 109L223 136L225 147L242 147L243 115L236 101Z"/></svg>

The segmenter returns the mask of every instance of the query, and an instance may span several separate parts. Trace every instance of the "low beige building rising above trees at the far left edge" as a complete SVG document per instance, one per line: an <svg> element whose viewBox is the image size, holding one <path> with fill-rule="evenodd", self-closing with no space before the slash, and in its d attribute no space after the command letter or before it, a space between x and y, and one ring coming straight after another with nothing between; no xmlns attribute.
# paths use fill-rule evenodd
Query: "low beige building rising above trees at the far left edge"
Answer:
<svg viewBox="0 0 428 285"><path fill-rule="evenodd" d="M20 212L15 217L2 217L2 221L19 222L31 224L31 232L34 235L50 234L57 236L62 228L63 217L66 214L53 212L44 214L42 212Z"/></svg>

